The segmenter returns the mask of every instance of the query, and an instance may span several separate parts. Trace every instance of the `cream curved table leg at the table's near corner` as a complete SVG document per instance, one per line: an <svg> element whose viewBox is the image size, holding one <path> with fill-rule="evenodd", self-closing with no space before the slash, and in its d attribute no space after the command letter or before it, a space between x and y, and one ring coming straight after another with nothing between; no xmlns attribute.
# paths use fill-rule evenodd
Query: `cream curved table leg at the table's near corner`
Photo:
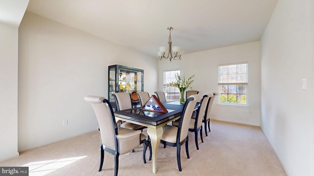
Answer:
<svg viewBox="0 0 314 176"><path fill-rule="evenodd" d="M152 160L153 160L153 173L156 174L157 172L157 149L160 143L160 138L162 135L162 127L153 129L149 128L147 129L147 133L149 137L151 138L151 144L152 144Z"/></svg>

